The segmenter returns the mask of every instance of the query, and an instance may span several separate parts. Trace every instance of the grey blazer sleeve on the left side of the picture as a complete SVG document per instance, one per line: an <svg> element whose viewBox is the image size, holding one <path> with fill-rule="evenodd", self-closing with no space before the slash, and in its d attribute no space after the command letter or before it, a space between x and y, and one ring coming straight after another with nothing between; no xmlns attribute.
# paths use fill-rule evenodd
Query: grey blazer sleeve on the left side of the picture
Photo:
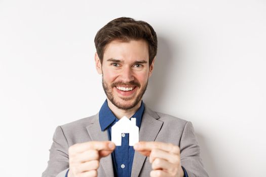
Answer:
<svg viewBox="0 0 266 177"><path fill-rule="evenodd" d="M42 177L65 177L68 169L68 143L61 126L54 132L48 166Z"/></svg>

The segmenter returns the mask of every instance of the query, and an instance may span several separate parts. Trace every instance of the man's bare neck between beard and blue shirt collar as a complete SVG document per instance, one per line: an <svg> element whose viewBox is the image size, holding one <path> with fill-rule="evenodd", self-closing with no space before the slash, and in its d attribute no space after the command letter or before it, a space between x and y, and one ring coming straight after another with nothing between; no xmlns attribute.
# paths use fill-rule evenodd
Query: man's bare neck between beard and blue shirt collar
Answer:
<svg viewBox="0 0 266 177"><path fill-rule="evenodd" d="M108 104L108 107L110 108L110 110L112 111L112 113L115 114L115 116L118 119L121 119L123 116L130 118L131 116L133 116L137 112L138 108L141 105L141 100L138 102L138 104L136 106L134 106L131 109L127 109L127 110L119 109L118 107L113 105L108 98L107 98L107 104Z"/></svg>

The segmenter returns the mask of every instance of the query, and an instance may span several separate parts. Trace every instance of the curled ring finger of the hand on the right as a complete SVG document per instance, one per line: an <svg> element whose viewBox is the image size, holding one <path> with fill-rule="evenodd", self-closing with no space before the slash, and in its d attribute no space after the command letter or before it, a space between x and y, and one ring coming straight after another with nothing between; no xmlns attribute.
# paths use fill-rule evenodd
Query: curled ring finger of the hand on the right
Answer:
<svg viewBox="0 0 266 177"><path fill-rule="evenodd" d="M176 174L177 172L177 165L170 163L164 159L156 158L154 162L151 164L151 168L154 170L164 170L170 173L171 175Z"/></svg>

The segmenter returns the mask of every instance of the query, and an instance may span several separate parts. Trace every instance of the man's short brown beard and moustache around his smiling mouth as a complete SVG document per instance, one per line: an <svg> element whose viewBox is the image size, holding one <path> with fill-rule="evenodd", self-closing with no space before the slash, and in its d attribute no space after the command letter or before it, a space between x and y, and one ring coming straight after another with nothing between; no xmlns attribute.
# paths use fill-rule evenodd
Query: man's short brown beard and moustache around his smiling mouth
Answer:
<svg viewBox="0 0 266 177"><path fill-rule="evenodd" d="M122 102L119 102L118 100L115 99L115 97L113 97L113 92L112 92L112 89L113 87L117 86L117 85L128 85L128 86L136 86L138 88L140 88L140 83L138 81L135 81L135 80L132 80L128 83L125 83L125 82L114 82L114 83L111 83L111 85L108 85L104 80L103 80L103 77L102 77L102 87L103 87L103 90L104 90L104 93L105 95L107 96L107 98L110 100L110 102L115 105L117 108L119 109L123 109L123 110L128 110L128 109L131 109L131 108L134 108L138 103L139 101L142 99L142 96L144 95L146 89L147 89L147 85L148 85L148 80L147 82L142 86L142 88L140 89L140 92L138 93L137 96L133 96L133 97L129 97L129 98L121 98L122 100L124 101L129 101L129 100L132 100L134 99L134 101L132 103L129 103L129 104L123 104ZM135 97L135 98L134 98Z"/></svg>

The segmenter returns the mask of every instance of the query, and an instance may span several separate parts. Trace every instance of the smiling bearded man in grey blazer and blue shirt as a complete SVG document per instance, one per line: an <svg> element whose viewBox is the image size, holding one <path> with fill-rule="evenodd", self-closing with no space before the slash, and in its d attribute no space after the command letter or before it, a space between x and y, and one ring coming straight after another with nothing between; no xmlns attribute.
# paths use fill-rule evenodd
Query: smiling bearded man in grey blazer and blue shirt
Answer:
<svg viewBox="0 0 266 177"><path fill-rule="evenodd" d="M157 36L143 21L118 18L95 36L95 64L107 96L98 114L56 128L43 176L208 176L191 122L154 112L143 102ZM136 118L139 140L110 142L111 126Z"/></svg>

